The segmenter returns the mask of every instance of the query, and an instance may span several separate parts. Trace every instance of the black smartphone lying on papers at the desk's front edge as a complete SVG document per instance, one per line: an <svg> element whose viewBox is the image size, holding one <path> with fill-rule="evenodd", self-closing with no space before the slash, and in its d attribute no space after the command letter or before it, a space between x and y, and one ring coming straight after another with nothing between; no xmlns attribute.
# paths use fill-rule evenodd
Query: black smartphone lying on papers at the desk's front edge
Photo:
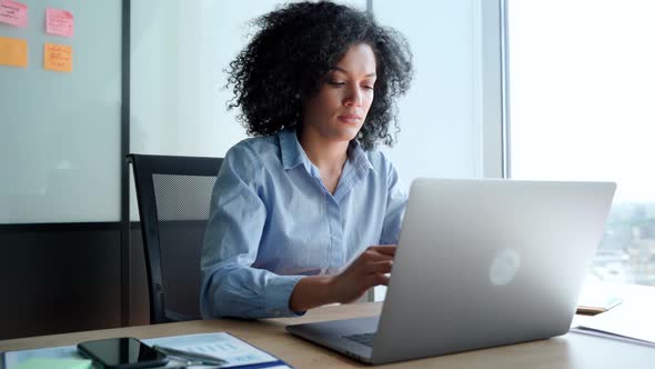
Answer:
<svg viewBox="0 0 655 369"><path fill-rule="evenodd" d="M132 337L80 342L78 351L107 369L163 367L169 362L165 355Z"/></svg>

